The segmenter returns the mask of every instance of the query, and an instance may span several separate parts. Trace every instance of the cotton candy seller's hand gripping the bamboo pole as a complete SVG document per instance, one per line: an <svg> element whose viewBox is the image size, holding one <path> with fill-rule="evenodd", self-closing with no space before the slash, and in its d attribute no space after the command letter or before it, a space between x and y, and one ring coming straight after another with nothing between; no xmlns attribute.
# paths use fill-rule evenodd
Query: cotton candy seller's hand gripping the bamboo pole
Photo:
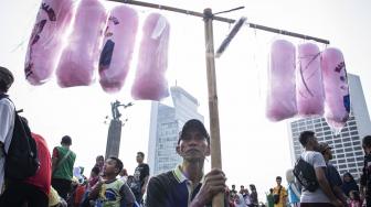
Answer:
<svg viewBox="0 0 371 207"><path fill-rule="evenodd" d="M204 177L200 192L191 203L191 207L203 207L211 203L212 198L225 190L225 175L219 168L211 170Z"/></svg>

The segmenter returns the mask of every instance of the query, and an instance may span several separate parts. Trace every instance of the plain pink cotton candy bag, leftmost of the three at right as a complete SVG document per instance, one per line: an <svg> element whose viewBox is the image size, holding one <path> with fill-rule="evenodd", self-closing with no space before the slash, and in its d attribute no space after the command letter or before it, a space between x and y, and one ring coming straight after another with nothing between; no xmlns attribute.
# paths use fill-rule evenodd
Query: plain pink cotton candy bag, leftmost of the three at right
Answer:
<svg viewBox="0 0 371 207"><path fill-rule="evenodd" d="M297 113L295 94L295 46L276 40L271 46L266 116L272 121L292 118Z"/></svg>

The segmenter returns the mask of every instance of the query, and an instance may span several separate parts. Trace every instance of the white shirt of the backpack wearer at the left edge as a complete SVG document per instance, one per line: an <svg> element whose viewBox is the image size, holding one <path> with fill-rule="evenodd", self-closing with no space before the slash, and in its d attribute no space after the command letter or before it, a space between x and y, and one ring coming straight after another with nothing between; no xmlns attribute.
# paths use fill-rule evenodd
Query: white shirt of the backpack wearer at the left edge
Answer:
<svg viewBox="0 0 371 207"><path fill-rule="evenodd" d="M4 151L8 153L11 138L14 129L14 106L7 99L0 100L0 142L4 144ZM2 149L1 149L2 150ZM0 153L0 194L2 193L2 185L4 179L4 163L6 157Z"/></svg>

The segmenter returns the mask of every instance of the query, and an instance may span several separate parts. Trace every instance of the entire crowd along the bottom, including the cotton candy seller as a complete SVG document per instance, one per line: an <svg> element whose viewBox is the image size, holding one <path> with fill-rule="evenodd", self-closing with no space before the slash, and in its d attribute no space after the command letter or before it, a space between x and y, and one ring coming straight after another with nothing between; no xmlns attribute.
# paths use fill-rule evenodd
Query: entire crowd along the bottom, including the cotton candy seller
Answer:
<svg viewBox="0 0 371 207"><path fill-rule="evenodd" d="M34 175L14 179L4 172L7 156L14 132L15 107L8 97L14 77L0 67L0 206L2 207L204 207L211 206L215 195L224 195L226 207L361 207L371 206L371 135L362 140L364 167L360 183L350 173L340 177L330 163L331 146L318 143L312 131L300 133L305 149L300 159L311 167L315 188L308 188L293 170L287 171L287 186L276 177L276 186L266 194L266 204L258 201L256 186L235 185L229 188L222 170L204 172L204 160L211 154L210 135L197 119L182 127L177 153L182 157L173 170L149 175L144 163L145 153L138 152L137 167L128 175L124 163L116 156L96 156L89 177L84 167L74 167L76 154L71 150L72 138L64 135L61 145L49 150L42 135L32 132L36 144L39 170ZM52 152L52 153L51 153ZM298 178L298 179L297 179Z"/></svg>

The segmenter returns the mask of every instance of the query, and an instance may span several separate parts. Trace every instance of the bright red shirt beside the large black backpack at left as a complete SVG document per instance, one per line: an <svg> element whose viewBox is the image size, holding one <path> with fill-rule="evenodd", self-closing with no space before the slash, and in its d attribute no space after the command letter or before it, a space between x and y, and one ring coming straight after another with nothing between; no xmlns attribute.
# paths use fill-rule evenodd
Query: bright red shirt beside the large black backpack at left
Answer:
<svg viewBox="0 0 371 207"><path fill-rule="evenodd" d="M34 176L26 178L24 183L32 184L40 188L45 195L49 195L52 176L51 155L47 144L41 135L32 133L32 138L36 142L40 168Z"/></svg>

